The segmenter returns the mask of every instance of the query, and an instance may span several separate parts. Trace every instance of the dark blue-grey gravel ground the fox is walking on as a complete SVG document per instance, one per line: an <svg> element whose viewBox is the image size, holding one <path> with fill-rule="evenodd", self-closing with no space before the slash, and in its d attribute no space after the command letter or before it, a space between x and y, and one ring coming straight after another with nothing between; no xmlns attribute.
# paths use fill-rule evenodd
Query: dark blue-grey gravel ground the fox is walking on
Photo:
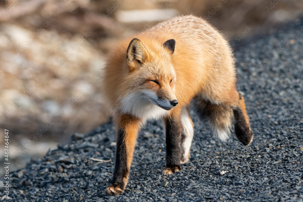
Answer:
<svg viewBox="0 0 303 202"><path fill-rule="evenodd" d="M74 135L42 159L10 175L13 201L303 201L303 23L236 52L238 90L250 116L254 141L233 135L216 140L191 112L195 136L190 163L169 176L161 122L149 122L138 136L128 186L105 196L111 183L115 129L105 124L87 136ZM225 174L220 175L222 171ZM4 194L0 181L1 195ZM4 199L6 200L6 199Z"/></svg>

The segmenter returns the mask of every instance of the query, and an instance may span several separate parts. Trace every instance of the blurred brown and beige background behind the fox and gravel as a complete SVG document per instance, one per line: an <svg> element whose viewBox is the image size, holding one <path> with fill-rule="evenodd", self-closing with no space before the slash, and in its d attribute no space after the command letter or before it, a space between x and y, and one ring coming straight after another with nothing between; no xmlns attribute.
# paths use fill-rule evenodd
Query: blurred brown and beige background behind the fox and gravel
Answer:
<svg viewBox="0 0 303 202"><path fill-rule="evenodd" d="M8 129L16 170L107 122L98 71L119 38L194 14L238 50L300 22L302 8L302 0L0 0L0 150Z"/></svg>

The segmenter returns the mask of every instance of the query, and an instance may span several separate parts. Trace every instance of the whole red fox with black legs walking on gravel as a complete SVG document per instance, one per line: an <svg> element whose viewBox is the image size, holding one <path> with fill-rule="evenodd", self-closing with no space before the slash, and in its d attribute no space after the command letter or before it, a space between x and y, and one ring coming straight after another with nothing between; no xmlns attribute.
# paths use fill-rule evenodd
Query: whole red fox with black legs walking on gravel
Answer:
<svg viewBox="0 0 303 202"><path fill-rule="evenodd" d="M253 132L244 99L236 90L234 57L228 42L205 20L178 16L119 41L103 69L103 93L117 129L116 163L105 194L121 194L128 182L137 133L148 119L163 119L166 166L181 170L194 135L190 103L226 140L234 117L244 145Z"/></svg>

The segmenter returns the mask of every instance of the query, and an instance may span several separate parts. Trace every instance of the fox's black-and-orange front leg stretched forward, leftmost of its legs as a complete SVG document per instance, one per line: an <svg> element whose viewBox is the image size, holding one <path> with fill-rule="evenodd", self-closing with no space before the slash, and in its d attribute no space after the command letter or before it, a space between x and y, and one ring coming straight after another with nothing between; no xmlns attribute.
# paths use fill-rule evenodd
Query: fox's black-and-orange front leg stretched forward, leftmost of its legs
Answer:
<svg viewBox="0 0 303 202"><path fill-rule="evenodd" d="M127 185L139 125L140 120L130 115L122 116L116 124L116 164L112 184L105 190L106 195L121 194Z"/></svg>

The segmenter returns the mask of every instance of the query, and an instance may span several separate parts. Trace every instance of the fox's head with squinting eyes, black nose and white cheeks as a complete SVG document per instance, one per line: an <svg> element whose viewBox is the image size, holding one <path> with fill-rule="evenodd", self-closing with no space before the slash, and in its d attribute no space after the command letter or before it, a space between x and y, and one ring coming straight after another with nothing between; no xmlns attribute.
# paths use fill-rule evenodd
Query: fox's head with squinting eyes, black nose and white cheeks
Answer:
<svg viewBox="0 0 303 202"><path fill-rule="evenodd" d="M155 104L170 110L178 104L174 92L176 74L171 64L176 41L170 39L160 46L149 41L146 43L145 46L134 38L127 49L125 81L131 82L125 84L130 91L128 105L145 108L143 105Z"/></svg>

